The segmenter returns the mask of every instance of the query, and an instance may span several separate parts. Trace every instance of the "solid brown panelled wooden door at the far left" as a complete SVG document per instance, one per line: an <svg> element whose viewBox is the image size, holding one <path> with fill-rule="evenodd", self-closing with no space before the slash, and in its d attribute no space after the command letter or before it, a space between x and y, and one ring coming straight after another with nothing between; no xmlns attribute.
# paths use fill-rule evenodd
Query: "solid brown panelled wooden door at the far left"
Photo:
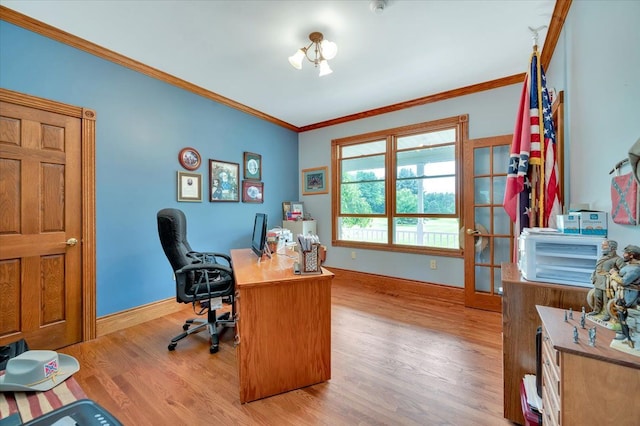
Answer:
<svg viewBox="0 0 640 426"><path fill-rule="evenodd" d="M93 212L83 194L83 110L67 107L0 93L0 344L58 349L95 337L95 281L83 280L93 270L85 250L94 250L83 228Z"/></svg>

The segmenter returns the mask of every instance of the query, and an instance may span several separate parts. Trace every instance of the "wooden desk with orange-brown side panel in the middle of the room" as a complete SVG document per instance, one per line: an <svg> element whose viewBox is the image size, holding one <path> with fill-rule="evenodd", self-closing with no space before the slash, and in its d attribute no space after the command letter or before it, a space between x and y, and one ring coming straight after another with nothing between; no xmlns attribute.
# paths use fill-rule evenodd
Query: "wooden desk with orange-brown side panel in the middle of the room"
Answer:
<svg viewBox="0 0 640 426"><path fill-rule="evenodd" d="M240 402L329 380L333 273L295 275L294 258L258 263L251 249L231 250L231 260Z"/></svg>

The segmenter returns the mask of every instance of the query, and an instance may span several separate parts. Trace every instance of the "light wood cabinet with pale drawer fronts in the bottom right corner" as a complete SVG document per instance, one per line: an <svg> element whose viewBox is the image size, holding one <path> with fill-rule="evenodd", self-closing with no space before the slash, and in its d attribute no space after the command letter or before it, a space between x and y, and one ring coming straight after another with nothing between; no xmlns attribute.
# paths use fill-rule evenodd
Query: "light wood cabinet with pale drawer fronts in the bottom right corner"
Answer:
<svg viewBox="0 0 640 426"><path fill-rule="evenodd" d="M545 426L640 424L640 358L612 349L615 332L580 314L537 306L542 321L542 423ZM574 327L578 343L574 341ZM596 327L595 346L588 328Z"/></svg>

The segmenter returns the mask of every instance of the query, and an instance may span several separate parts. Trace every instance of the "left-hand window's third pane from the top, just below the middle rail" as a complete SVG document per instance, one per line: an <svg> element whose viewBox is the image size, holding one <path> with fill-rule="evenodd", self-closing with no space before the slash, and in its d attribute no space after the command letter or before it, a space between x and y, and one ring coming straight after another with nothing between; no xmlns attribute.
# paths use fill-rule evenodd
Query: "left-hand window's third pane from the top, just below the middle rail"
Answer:
<svg viewBox="0 0 640 426"><path fill-rule="evenodd" d="M384 214L384 182L340 185L340 214Z"/></svg>

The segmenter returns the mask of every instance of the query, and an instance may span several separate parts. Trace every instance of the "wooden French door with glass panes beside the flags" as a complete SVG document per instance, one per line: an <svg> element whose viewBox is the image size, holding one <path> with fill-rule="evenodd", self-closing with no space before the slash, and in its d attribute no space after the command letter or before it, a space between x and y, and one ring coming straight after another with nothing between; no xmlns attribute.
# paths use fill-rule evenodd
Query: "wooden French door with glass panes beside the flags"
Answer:
<svg viewBox="0 0 640 426"><path fill-rule="evenodd" d="M500 264L513 252L513 226L502 207L511 135L464 146L465 306L500 312Z"/></svg>

